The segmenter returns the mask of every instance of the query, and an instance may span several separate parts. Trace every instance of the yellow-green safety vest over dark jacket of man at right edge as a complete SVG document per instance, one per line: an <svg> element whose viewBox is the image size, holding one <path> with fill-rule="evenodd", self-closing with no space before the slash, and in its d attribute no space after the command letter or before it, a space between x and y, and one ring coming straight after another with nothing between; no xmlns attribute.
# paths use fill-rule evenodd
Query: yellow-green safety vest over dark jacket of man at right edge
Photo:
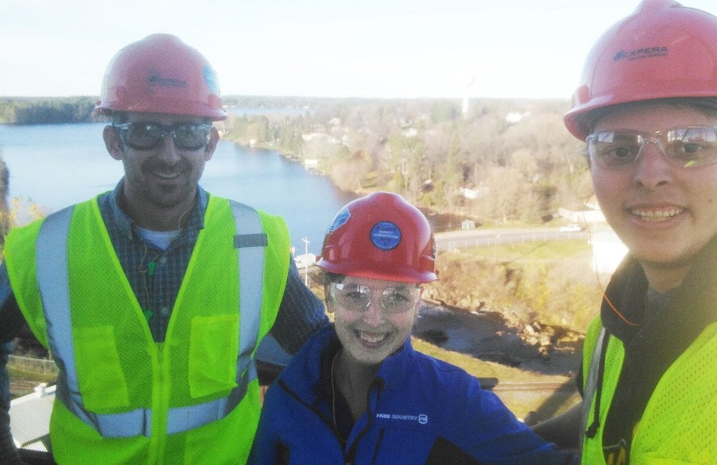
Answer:
<svg viewBox="0 0 717 465"><path fill-rule="evenodd" d="M597 371L600 339L607 337L602 384ZM594 423L597 387L602 386L599 425L593 438L583 438L581 464L605 465L602 433L617 387L625 347L592 321L583 355L584 421L582 431ZM592 393L592 394L589 394ZM637 423L630 446L630 465L717 464L717 323L700 336L657 382Z"/></svg>

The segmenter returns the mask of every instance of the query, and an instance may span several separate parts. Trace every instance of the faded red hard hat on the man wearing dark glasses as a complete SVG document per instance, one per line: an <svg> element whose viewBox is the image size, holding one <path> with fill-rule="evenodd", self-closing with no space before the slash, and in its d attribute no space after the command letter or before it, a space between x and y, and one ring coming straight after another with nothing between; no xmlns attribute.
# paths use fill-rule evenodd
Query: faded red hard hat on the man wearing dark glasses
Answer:
<svg viewBox="0 0 717 465"><path fill-rule="evenodd" d="M212 65L171 34L152 34L117 52L95 110L227 118Z"/></svg>

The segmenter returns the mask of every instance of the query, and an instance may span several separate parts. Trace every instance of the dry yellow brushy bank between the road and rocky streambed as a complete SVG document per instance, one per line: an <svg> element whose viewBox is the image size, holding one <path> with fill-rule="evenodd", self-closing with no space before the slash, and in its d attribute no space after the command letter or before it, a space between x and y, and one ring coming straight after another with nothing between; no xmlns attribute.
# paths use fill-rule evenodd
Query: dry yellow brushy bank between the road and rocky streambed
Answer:
<svg viewBox="0 0 717 465"><path fill-rule="evenodd" d="M442 252L439 281L424 297L460 309L511 313L576 331L592 320L602 297L584 240L515 243Z"/></svg>

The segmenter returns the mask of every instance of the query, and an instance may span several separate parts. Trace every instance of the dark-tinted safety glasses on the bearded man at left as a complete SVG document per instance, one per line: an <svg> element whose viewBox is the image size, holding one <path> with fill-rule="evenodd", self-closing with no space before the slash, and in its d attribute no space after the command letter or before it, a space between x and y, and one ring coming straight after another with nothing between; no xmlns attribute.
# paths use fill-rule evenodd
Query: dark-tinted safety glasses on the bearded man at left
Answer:
<svg viewBox="0 0 717 465"><path fill-rule="evenodd" d="M212 125L206 123L177 123L164 126L160 123L138 121L135 123L115 124L123 144L135 150L156 149L170 134L174 146L180 150L199 150L209 144Z"/></svg>

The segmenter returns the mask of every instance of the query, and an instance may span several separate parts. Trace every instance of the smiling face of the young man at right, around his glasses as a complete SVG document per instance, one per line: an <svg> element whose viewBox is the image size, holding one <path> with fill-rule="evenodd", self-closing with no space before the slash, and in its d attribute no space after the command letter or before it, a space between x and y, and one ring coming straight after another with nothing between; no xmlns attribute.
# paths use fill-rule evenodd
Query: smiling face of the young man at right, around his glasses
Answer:
<svg viewBox="0 0 717 465"><path fill-rule="evenodd" d="M594 132L678 126L717 126L717 118L687 106L641 103L603 116ZM629 166L592 164L590 170L607 221L640 260L650 285L657 291L678 286L717 233L717 164L678 167L657 144L645 144Z"/></svg>

